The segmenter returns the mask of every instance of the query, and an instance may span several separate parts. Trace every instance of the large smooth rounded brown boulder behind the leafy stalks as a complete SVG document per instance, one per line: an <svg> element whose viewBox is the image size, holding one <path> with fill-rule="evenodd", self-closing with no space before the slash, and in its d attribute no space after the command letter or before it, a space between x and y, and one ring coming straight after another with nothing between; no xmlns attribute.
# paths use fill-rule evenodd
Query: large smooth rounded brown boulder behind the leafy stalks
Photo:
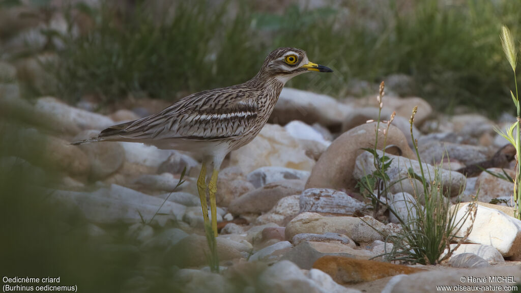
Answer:
<svg viewBox="0 0 521 293"><path fill-rule="evenodd" d="M387 125L380 124L380 129L386 127ZM313 167L306 182L306 189L332 188L355 191L356 179L353 178L353 169L356 157L364 152L362 148L374 148L375 130L376 123L368 123L355 127L334 140ZM383 134L379 132L378 149L383 148L383 138ZM393 125L389 128L387 145L395 145L404 157L416 159L402 131Z"/></svg>

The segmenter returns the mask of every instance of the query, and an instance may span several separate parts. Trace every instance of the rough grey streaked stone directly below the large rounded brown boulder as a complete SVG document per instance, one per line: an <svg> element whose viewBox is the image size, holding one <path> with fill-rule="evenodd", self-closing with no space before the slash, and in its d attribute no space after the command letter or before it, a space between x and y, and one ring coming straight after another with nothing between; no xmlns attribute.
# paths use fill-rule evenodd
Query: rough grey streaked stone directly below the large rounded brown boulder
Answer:
<svg viewBox="0 0 521 293"><path fill-rule="evenodd" d="M310 188L300 196L300 212L353 215L365 204L342 191L328 188Z"/></svg>

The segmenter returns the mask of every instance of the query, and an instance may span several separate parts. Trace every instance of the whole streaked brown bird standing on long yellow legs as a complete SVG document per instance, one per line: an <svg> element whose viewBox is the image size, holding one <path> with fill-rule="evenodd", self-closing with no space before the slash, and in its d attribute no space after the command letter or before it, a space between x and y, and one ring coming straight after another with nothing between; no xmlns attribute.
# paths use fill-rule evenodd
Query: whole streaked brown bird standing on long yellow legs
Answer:
<svg viewBox="0 0 521 293"><path fill-rule="evenodd" d="M235 86L206 90L183 97L156 114L103 129L97 137L73 145L100 141L141 142L159 149L188 151L202 156L197 191L205 227L217 237L217 177L225 156L251 142L266 124L284 84L310 71L333 72L309 62L299 48L282 47L268 54L252 79ZM207 167L212 175L207 181ZM212 224L208 219L206 192ZM210 231L211 232L211 231Z"/></svg>

